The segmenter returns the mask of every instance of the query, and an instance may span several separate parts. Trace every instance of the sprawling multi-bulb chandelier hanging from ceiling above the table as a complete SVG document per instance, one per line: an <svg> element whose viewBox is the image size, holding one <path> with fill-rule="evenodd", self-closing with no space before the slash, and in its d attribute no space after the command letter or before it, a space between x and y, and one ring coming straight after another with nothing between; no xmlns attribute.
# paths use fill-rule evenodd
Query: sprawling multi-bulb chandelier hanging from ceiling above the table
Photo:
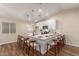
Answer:
<svg viewBox="0 0 79 59"><path fill-rule="evenodd" d="M37 23L43 19L44 15L48 15L48 13L44 14L44 11L41 8L41 6L42 6L42 4L39 3L38 4L39 8L31 9L31 10L29 10L29 12L26 13L26 20L29 23Z"/></svg>

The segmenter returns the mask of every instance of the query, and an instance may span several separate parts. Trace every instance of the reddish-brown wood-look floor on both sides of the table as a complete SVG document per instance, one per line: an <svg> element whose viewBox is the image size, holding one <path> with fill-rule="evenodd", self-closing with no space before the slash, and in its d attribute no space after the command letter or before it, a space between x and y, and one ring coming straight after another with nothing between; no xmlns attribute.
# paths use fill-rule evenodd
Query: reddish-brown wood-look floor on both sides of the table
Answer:
<svg viewBox="0 0 79 59"><path fill-rule="evenodd" d="M27 56L16 42L0 45L0 56ZM79 56L79 47L65 45L59 56Z"/></svg>

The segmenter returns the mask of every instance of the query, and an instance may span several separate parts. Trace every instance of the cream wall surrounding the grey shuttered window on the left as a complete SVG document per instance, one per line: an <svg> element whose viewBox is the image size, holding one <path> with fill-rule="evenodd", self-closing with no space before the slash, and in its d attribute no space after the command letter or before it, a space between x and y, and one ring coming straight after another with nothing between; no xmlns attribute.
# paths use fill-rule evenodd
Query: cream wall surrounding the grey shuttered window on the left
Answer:
<svg viewBox="0 0 79 59"><path fill-rule="evenodd" d="M2 34L2 22L16 23L16 33L15 34ZM15 42L17 40L18 34L24 34L27 30L27 23L22 21L15 21L8 18L0 18L0 45L5 43Z"/></svg>

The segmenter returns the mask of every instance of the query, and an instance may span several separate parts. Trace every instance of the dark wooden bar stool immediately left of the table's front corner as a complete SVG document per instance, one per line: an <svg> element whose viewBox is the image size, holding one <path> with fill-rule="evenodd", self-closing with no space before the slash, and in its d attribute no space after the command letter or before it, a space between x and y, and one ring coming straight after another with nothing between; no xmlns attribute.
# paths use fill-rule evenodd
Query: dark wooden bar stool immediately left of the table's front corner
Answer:
<svg viewBox="0 0 79 59"><path fill-rule="evenodd" d="M32 48L33 55L35 55L35 52L38 55L38 52L36 50L37 46L39 47L39 51L40 51L40 55L41 55L41 46L39 45L39 43L37 43L36 40L30 40L30 42L29 42L29 50L31 51L31 48ZM30 53L30 51L29 51L29 53Z"/></svg>

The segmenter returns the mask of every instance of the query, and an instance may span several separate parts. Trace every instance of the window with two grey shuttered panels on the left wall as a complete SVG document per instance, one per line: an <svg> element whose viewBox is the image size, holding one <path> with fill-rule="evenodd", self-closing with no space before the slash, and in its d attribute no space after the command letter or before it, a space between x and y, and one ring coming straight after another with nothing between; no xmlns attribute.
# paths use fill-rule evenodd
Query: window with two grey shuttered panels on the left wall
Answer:
<svg viewBox="0 0 79 59"><path fill-rule="evenodd" d="M16 24L15 23L2 23L2 33L15 33L16 32Z"/></svg>

